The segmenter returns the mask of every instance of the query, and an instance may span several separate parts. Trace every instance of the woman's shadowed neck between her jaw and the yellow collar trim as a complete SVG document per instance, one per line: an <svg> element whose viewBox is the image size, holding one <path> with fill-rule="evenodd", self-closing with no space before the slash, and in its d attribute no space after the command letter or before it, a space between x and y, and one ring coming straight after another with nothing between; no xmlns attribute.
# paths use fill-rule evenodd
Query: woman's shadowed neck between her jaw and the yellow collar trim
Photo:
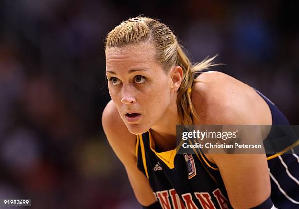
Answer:
<svg viewBox="0 0 299 209"><path fill-rule="evenodd" d="M161 119L152 126L150 132L155 142L155 150L162 152L176 148L176 125L179 124L176 102L170 105Z"/></svg>

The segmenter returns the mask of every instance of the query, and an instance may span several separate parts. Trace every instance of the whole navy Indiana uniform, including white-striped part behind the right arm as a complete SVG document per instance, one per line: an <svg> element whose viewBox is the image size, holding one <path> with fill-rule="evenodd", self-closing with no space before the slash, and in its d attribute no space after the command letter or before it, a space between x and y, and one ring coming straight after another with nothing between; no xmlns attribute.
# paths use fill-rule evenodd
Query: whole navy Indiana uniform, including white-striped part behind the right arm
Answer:
<svg viewBox="0 0 299 209"><path fill-rule="evenodd" d="M289 124L268 98L256 92L269 105L272 124ZM271 129L269 135L271 133L275 131ZM176 149L156 152L148 131L137 135L137 167L149 179L163 209L232 208L218 167L209 162L200 149L195 150L194 154L177 154ZM274 205L281 209L299 208L298 156L294 152L267 155L267 160Z"/></svg>

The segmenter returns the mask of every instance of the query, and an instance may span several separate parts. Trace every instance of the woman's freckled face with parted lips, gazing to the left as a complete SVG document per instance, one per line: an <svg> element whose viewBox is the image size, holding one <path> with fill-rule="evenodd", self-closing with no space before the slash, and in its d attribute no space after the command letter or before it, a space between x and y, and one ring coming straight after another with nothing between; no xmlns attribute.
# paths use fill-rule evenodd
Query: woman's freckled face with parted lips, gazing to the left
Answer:
<svg viewBox="0 0 299 209"><path fill-rule="evenodd" d="M106 76L110 96L133 134L148 131L173 103L171 73L156 61L150 43L107 48Z"/></svg>

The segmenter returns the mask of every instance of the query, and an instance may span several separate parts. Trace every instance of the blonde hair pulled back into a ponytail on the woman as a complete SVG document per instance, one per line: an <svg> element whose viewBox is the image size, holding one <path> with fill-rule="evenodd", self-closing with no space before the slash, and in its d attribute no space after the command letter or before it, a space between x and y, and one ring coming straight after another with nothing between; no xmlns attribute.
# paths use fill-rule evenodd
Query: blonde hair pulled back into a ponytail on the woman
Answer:
<svg viewBox="0 0 299 209"><path fill-rule="evenodd" d="M173 65L179 65L183 69L182 84L177 92L177 110L180 124L192 125L192 117L198 119L190 98L194 74L217 65L212 63L217 55L206 58L200 63L192 64L173 32L165 24L153 18L142 16L123 21L110 31L105 40L105 48L122 47L142 42L154 44L156 60L165 71L168 71Z"/></svg>

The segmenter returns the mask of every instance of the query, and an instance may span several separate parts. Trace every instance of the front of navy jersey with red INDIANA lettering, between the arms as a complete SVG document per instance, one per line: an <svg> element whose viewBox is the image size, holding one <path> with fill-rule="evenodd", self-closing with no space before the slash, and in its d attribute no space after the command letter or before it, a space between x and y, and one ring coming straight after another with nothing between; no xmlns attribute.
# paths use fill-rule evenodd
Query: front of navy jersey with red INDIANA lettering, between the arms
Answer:
<svg viewBox="0 0 299 209"><path fill-rule="evenodd" d="M137 136L136 152L137 166L163 209L231 208L218 168L201 153L157 153L150 132Z"/></svg>

